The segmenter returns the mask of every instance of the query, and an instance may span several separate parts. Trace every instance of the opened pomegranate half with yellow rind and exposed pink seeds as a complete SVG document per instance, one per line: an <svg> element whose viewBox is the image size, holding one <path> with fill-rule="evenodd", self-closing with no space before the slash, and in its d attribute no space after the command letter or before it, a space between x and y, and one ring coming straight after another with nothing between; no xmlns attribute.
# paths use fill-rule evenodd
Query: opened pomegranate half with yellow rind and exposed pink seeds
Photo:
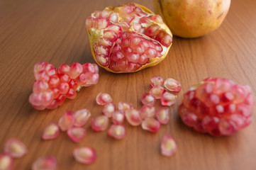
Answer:
<svg viewBox="0 0 256 170"><path fill-rule="evenodd" d="M165 59L172 33L161 16L139 4L108 6L85 21L91 54L109 72L137 72Z"/></svg>

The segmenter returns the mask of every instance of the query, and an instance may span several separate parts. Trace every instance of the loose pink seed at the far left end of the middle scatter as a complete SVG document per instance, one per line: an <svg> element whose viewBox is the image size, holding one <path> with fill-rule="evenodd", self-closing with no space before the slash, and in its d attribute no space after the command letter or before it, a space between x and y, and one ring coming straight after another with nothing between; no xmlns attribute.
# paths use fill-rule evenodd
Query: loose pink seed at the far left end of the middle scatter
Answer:
<svg viewBox="0 0 256 170"><path fill-rule="evenodd" d="M49 123L43 131L43 140L55 139L60 134L60 129L57 123Z"/></svg>

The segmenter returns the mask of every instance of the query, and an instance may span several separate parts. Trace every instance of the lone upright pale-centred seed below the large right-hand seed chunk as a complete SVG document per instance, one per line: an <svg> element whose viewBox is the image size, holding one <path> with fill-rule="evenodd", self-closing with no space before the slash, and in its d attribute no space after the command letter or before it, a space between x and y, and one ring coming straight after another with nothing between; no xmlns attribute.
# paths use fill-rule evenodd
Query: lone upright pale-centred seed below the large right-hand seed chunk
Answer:
<svg viewBox="0 0 256 170"><path fill-rule="evenodd" d="M165 157L171 157L175 152L177 152L177 144L172 137L172 135L165 135L162 138L161 143L161 153Z"/></svg>

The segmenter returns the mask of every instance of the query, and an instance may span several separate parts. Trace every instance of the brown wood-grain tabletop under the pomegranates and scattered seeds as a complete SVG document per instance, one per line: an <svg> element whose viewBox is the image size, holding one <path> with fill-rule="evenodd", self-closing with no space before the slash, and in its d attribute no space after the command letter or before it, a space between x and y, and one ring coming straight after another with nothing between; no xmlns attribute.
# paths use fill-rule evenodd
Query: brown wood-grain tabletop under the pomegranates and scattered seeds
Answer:
<svg viewBox="0 0 256 170"><path fill-rule="evenodd" d="M118 0L28 0L0 1L0 152L10 137L17 137L28 146L28 154L15 159L13 169L30 169L37 157L57 157L58 170L79 169L255 169L256 117L252 124L230 137L211 137L187 128L179 119L177 107L189 86L206 77L226 77L239 84L248 84L256 92L256 1L232 1L221 28L196 39L174 37L167 58L155 67L133 74L112 74L100 69L96 86L82 89L74 100L53 111L36 111L28 103L32 90L33 66L41 60L55 67L73 62L94 62L84 21L91 12L105 6L131 1ZM153 9L152 1L135 1ZM129 101L141 107L140 96L150 90L150 77L172 77L182 83L179 101L171 107L168 125L152 134L127 123L124 140L113 140L106 131L93 132L74 144L62 132L51 141L41 140L50 121L57 121L65 111L88 108L100 115L95 97L107 92L113 103ZM159 103L158 103L159 104ZM171 133L179 145L177 154L160 155L163 135ZM96 149L98 159L91 165L74 161L75 147Z"/></svg>

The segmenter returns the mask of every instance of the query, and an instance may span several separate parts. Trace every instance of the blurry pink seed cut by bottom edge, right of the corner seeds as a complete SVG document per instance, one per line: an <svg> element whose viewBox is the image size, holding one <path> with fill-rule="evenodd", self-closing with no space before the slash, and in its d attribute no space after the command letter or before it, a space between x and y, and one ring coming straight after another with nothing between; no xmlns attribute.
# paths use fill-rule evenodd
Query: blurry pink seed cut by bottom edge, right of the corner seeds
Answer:
<svg viewBox="0 0 256 170"><path fill-rule="evenodd" d="M55 170L56 166L55 157L40 157L33 163L32 170Z"/></svg>

